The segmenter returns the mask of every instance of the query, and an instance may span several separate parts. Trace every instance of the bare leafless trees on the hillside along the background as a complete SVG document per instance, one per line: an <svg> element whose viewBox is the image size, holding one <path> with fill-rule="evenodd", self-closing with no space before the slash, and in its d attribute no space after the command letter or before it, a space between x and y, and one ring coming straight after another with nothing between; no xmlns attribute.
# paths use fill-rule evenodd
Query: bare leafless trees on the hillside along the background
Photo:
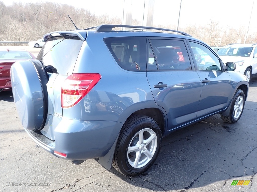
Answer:
<svg viewBox="0 0 257 192"><path fill-rule="evenodd" d="M68 14L80 29L102 24L122 24L121 17L97 16L87 9L75 8L67 4L16 2L6 6L0 1L0 41L32 41L40 39L52 31L74 30L75 27L67 16ZM142 22L133 19L132 25L142 25ZM155 25L153 27L177 28L172 25ZM241 43L243 43L246 34L243 26L221 27L218 22L212 20L207 25L189 24L179 30L212 46L236 43L238 39L241 39ZM257 43L257 33L248 33L246 43Z"/></svg>

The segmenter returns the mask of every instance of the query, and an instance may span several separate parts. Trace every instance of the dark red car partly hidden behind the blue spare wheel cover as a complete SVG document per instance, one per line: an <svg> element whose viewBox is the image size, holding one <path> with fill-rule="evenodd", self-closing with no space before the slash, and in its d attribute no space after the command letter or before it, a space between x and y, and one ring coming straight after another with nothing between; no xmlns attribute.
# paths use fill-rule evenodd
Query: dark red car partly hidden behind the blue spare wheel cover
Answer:
<svg viewBox="0 0 257 192"><path fill-rule="evenodd" d="M35 59L35 56L22 49L0 49L0 92L11 90L10 69L14 62Z"/></svg>

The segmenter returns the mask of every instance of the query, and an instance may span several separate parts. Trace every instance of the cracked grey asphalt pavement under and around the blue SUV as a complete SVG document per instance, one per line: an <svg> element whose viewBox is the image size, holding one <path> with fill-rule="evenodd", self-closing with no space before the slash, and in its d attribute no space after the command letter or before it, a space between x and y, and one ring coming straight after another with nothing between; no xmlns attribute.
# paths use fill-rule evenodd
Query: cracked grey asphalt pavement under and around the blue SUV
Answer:
<svg viewBox="0 0 257 192"><path fill-rule="evenodd" d="M0 191L257 191L257 78L241 119L214 115L163 138L144 174L126 177L96 160L80 165L39 147L22 128L11 91L0 92ZM233 180L250 180L232 186ZM41 186L40 186L41 185Z"/></svg>

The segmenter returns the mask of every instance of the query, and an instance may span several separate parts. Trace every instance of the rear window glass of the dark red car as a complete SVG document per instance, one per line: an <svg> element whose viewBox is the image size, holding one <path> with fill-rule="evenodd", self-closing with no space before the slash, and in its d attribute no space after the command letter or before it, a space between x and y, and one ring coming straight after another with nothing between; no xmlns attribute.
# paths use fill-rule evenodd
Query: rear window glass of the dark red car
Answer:
<svg viewBox="0 0 257 192"><path fill-rule="evenodd" d="M27 51L0 51L0 60L4 59L32 59Z"/></svg>

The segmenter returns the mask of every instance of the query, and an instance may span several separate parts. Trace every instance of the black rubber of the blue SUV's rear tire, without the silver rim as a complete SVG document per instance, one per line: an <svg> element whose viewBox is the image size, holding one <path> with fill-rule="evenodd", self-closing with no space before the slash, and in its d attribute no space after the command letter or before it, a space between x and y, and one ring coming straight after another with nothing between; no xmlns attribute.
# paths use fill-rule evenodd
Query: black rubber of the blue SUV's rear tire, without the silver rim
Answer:
<svg viewBox="0 0 257 192"><path fill-rule="evenodd" d="M134 137L134 135L138 131L140 131L144 128L150 128L155 132L155 134L157 136L157 147L155 150L155 154L153 155L152 159L150 160L150 162L147 165L145 165L141 168L134 168L128 162L127 150L128 150L130 141ZM132 126L130 128L129 132L127 133L127 135L125 136L125 139L122 142L121 153L120 153L120 157L123 157L123 158L121 158L120 164L123 167L123 170L125 170L126 174L131 175L131 176L139 175L139 174L145 172L147 169L149 169L159 154L160 147L161 147L161 141L162 141L161 130L156 122L154 122L152 120L142 120L139 123Z"/></svg>

